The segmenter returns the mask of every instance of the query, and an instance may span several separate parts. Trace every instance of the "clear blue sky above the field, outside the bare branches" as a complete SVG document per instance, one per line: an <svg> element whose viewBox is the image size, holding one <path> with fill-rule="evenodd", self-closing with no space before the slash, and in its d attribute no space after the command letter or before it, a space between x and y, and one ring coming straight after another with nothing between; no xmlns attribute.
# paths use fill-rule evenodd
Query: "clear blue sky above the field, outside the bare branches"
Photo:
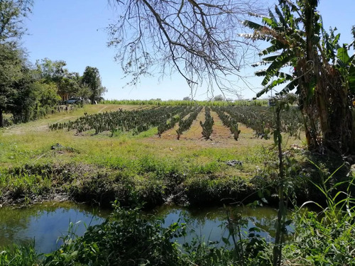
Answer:
<svg viewBox="0 0 355 266"><path fill-rule="evenodd" d="M319 9L325 28L337 26L342 33L341 42L350 43L355 1L321 0ZM106 0L35 0L33 13L26 20L28 35L23 38L23 47L33 63L45 57L65 60L70 71L80 74L87 66L97 67L102 84L108 89L106 99L168 100L189 96L190 88L178 74L165 76L163 80L158 75L144 78L136 87L124 87L127 80L122 79L121 66L114 62L114 49L107 48L104 31L114 17ZM255 87L253 91L258 92L260 79L253 78L250 82ZM255 96L254 92L244 89L241 94L248 99ZM206 98L206 89L200 87L195 99Z"/></svg>

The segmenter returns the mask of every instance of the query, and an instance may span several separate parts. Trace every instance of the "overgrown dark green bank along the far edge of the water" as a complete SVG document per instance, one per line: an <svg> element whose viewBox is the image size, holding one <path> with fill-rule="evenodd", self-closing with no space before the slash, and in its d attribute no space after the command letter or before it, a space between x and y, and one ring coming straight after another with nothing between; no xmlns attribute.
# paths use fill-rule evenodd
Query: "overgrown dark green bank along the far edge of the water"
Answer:
<svg viewBox="0 0 355 266"><path fill-rule="evenodd" d="M250 178L217 174L185 174L167 172L132 173L95 165L23 165L1 171L0 201L2 205L35 202L77 201L110 207L117 199L122 206L145 202L147 209L162 204L210 206L253 201L275 203L276 189L268 177ZM268 189L265 189L268 187ZM263 194L259 191L263 191ZM297 188L298 198L310 197L305 187Z"/></svg>

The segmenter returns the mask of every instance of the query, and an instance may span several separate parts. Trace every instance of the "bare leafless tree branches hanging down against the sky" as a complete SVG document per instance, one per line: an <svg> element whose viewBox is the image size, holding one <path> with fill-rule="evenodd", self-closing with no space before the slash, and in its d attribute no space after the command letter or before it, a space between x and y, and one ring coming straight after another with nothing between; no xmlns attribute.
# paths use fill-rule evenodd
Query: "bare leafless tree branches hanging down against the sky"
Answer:
<svg viewBox="0 0 355 266"><path fill-rule="evenodd" d="M108 26L109 46L116 48L128 84L141 76L173 69L191 89L207 82L235 92L251 43L239 37L248 13L260 13L258 0L109 0L119 14ZM192 96L193 96L192 91Z"/></svg>

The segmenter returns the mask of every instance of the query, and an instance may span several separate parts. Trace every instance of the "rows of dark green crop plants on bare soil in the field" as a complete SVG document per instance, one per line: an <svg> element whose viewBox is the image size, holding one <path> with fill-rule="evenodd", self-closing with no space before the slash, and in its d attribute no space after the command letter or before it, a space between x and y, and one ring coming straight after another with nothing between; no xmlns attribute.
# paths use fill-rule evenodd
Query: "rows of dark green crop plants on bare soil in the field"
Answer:
<svg viewBox="0 0 355 266"><path fill-rule="evenodd" d="M211 110L218 114L224 126L228 127L234 135L235 140L238 140L241 133L239 123L253 128L257 137L266 139L269 138L271 128L275 123L272 108L266 106L213 106L212 109L206 106L205 121L203 123L200 121L200 125L202 126L202 136L207 140L212 134L214 125ZM202 106L155 106L133 111L119 109L119 111L92 115L85 113L75 121L52 124L50 130L67 129L67 131L76 130L77 133L94 130L95 134L110 131L113 136L118 131L132 131L133 135L136 135L149 128L157 127L157 134L160 136L178 123L179 128L176 133L180 139L182 133L191 127L201 111ZM282 116L283 132L289 133L291 136L300 135L303 126L300 111L291 107L288 111L283 112Z"/></svg>

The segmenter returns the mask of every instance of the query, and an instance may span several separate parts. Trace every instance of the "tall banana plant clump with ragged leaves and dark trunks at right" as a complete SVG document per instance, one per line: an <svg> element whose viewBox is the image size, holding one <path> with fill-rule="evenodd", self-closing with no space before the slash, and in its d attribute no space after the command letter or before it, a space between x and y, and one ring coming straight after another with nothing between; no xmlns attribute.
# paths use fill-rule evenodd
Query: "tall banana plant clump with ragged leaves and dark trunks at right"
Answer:
<svg viewBox="0 0 355 266"><path fill-rule="evenodd" d="M280 94L295 90L304 115L307 144L311 150L325 148L337 154L354 153L355 60L350 45L339 45L340 34L324 31L317 12L317 0L296 3L279 0L263 24L246 21L254 29L253 40L267 40L271 46L261 64L265 88L257 94L286 84ZM285 72L292 66L293 73Z"/></svg>

